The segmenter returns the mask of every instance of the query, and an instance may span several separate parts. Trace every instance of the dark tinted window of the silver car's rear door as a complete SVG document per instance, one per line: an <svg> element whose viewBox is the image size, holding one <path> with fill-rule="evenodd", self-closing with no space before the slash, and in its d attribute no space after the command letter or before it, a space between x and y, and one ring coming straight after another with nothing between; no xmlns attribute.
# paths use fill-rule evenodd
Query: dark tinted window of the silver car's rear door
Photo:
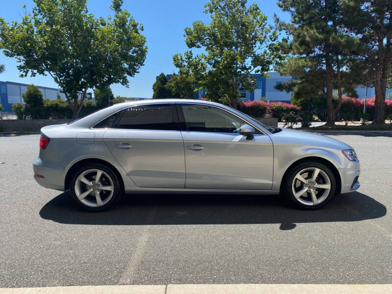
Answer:
<svg viewBox="0 0 392 294"><path fill-rule="evenodd" d="M171 104L133 106L125 109L116 125L122 129L173 130Z"/></svg>

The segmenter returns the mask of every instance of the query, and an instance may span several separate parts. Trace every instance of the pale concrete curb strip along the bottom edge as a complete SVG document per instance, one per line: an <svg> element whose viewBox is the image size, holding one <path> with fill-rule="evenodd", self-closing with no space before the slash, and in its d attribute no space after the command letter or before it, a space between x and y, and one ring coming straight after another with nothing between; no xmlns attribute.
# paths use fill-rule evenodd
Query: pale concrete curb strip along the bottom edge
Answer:
<svg viewBox="0 0 392 294"><path fill-rule="evenodd" d="M0 294L390 294L387 285L233 284L0 288Z"/></svg>

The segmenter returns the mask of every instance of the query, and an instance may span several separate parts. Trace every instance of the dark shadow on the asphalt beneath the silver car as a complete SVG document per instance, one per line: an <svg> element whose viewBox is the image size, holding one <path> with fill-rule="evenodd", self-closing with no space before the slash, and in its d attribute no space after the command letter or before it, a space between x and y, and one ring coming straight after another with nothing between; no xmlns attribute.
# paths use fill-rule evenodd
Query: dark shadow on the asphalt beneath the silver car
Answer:
<svg viewBox="0 0 392 294"><path fill-rule="evenodd" d="M290 230L296 223L363 221L387 214L387 208L358 192L338 196L320 210L296 210L280 196L244 195L126 195L112 209L83 211L62 193L40 211L43 219L65 224L171 225L171 224L268 224Z"/></svg>

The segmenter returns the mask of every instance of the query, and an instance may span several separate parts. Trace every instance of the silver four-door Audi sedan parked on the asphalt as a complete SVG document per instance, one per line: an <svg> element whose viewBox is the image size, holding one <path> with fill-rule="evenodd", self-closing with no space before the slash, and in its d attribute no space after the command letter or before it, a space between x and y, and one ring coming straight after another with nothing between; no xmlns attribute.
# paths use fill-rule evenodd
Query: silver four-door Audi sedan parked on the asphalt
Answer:
<svg viewBox="0 0 392 294"><path fill-rule="evenodd" d="M280 194L317 209L360 186L347 144L184 99L123 102L43 127L33 169L41 186L69 189L90 211L124 193Z"/></svg>

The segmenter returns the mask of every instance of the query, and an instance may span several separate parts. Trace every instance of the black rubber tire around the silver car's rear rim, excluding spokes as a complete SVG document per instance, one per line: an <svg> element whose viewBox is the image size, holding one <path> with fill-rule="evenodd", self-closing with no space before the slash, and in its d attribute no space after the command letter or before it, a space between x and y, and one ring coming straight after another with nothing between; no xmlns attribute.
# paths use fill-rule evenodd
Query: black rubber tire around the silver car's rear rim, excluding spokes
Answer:
<svg viewBox="0 0 392 294"><path fill-rule="evenodd" d="M92 207L91 205L86 205L86 203L82 202L82 200L84 200L84 199L82 199L82 200L79 200L79 199L78 199L77 193L76 193L76 191L75 191L75 183L76 183L76 181L77 181L79 175L82 174L83 172L88 172L88 171L90 171L90 170L99 170L99 171L102 171L102 172L103 172L103 173L102 173L102 176L101 176L102 186L106 185L105 183L103 183L103 181L106 181L106 183L108 183L108 185L110 185L110 186L112 186L112 184L113 184L113 189L111 190L111 191L113 191L113 194L112 194L112 195L110 195L110 191L97 190L97 191L101 191L101 192L99 192L99 194L102 193L102 195L103 195L103 194L106 194L106 192L108 192L108 193L109 193L108 195L110 196L110 198L109 198L109 196L106 196L106 198L103 198L103 197L102 197L102 203L103 203L103 205L101 205L101 206ZM94 172L91 172L91 174L94 174ZM86 176L89 177L89 176L91 176L91 175L90 175L90 173L88 173ZM108 179L108 177L110 177L111 182L110 182L110 180ZM89 179L89 180L94 180L94 176L93 176L93 178L90 177L90 178L88 178L88 179ZM80 180L78 180L78 185L77 185L77 187L80 187L79 185L80 185L80 186L85 185L85 186L86 186L85 189L88 189L88 185L87 185L87 184L84 184L84 183L82 183L82 182L80 182ZM108 186L107 186L107 187L108 187ZM102 187L102 188L103 188L103 187ZM79 188L76 188L76 189L79 189ZM98 188L98 189L99 189L99 188ZM113 206L114 204L117 203L117 201L118 201L118 200L121 198L121 196L123 195L123 186L122 186L121 183L120 183L120 180L119 180L119 178L118 178L117 173L114 172L114 171L112 171L111 168L108 168L107 166L102 165L102 164L88 164L88 165L84 165L84 166L79 167L79 168L76 169L75 172L73 173L73 176L72 176L72 179L71 179L71 185L70 185L70 192L71 192L71 197L73 198L73 200L75 200L76 203L77 203L78 205L80 205L83 209L85 209L85 210L87 210L87 211L91 211L91 212L99 212L99 211L106 210L106 209L108 209L109 207L111 207L111 206ZM91 192L91 193L94 193L94 191ZM103 195L103 196L104 196L104 195ZM87 198L87 197L89 197L89 199L92 200L91 203L94 202L94 201L93 201L94 196L92 196L91 194L88 194L88 195L86 196L86 198ZM86 198L85 198L85 199L86 199ZM104 203L105 200L107 200L106 203ZM90 202L90 201L85 200L85 202ZM98 199L97 199L97 202L98 202ZM98 204L97 204L97 205L98 205Z"/></svg>

